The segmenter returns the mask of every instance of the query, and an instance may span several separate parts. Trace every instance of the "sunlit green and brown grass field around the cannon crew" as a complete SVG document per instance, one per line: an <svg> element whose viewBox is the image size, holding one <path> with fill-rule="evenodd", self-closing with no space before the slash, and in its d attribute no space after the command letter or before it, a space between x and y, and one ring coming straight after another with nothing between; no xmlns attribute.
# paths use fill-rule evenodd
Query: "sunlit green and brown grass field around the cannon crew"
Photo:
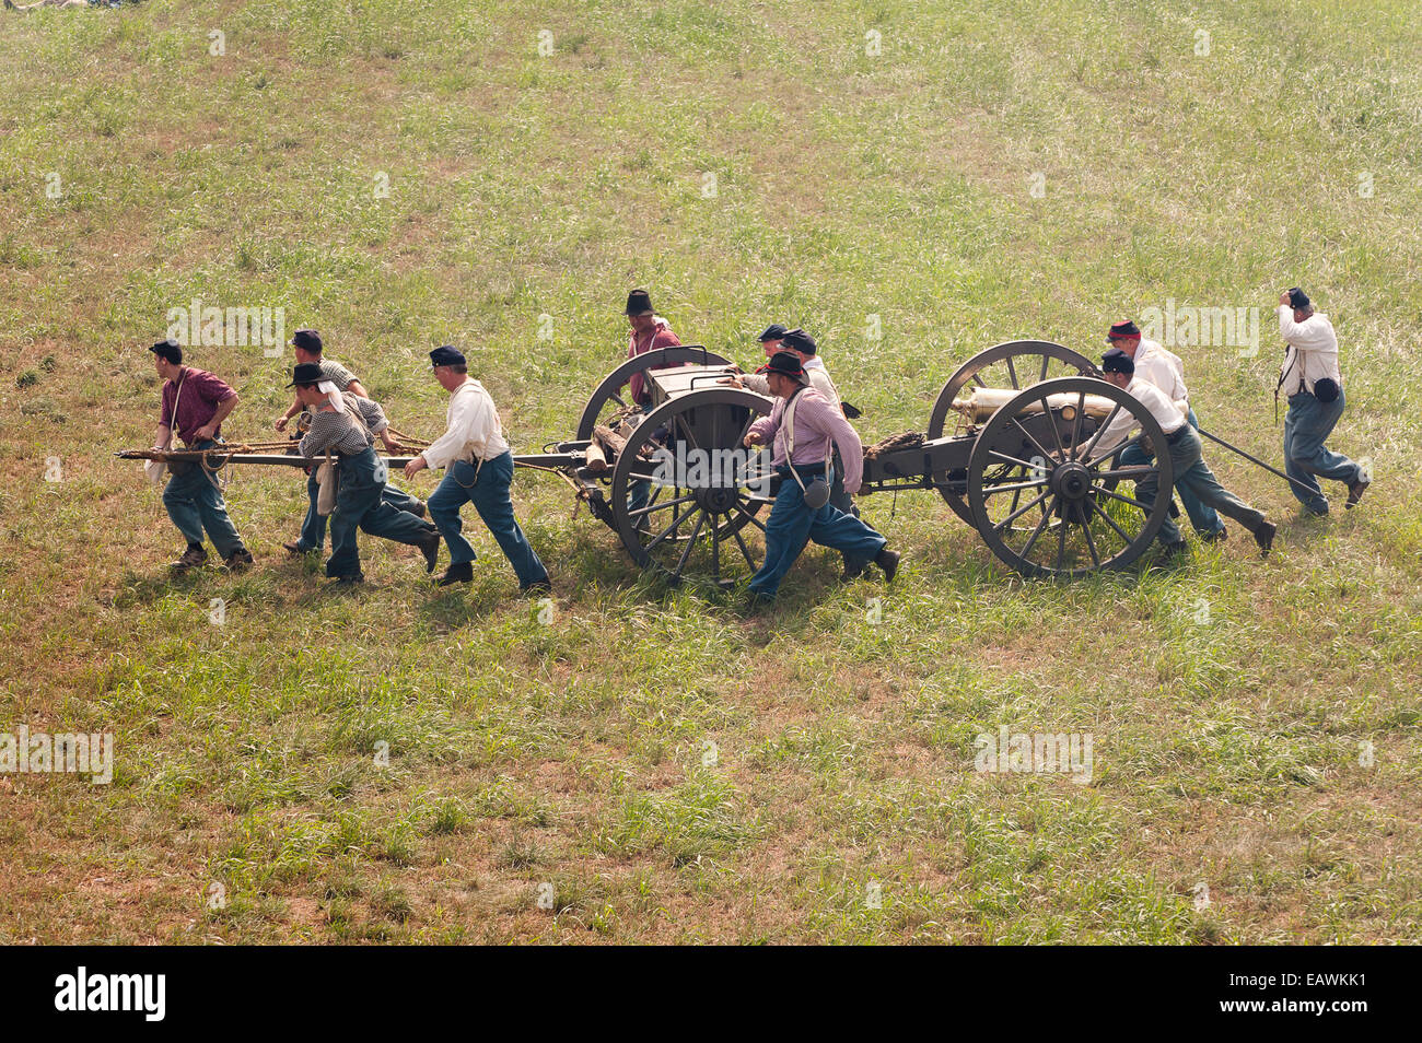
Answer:
<svg viewBox="0 0 1422 1043"><path fill-rule="evenodd" d="M0 941L1422 941L1415 14L0 13L0 732L115 736L108 786L0 774ZM931 495L875 496L892 590L811 550L741 618L520 472L540 620L476 524L471 587L363 539L365 588L328 591L280 548L304 489L276 469L228 490L259 567L171 581L181 540L112 459L149 445L145 348L195 297L320 328L427 438L425 352L458 344L528 452L572 435L647 286L742 364L809 328L866 442L995 342L1260 307L1256 357L1177 351L1202 422L1280 462L1294 284L1342 344L1332 445L1376 482L1304 520L1207 450L1280 523L1267 561L1234 527L1024 583ZM290 352L189 361L240 391L229 438L270 438ZM974 770L1001 726L1092 735L1091 783Z"/></svg>

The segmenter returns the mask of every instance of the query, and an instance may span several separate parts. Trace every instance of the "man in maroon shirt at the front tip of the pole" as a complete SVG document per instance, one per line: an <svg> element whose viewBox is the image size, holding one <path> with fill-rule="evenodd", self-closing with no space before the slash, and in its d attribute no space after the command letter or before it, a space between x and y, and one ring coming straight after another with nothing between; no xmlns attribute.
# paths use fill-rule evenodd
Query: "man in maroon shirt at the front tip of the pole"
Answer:
<svg viewBox="0 0 1422 1043"><path fill-rule="evenodd" d="M152 345L154 368L164 378L162 411L154 449L172 446L173 435L188 449L208 449L218 445L222 422L237 405L237 392L225 381L205 369L182 364L182 345L166 340ZM222 561L233 571L252 564L252 554L237 536L237 527L228 517L218 479L192 462L169 463L171 477L164 489L164 506L178 531L188 540L188 550L173 561L173 568L186 571L208 560L202 533L208 531Z"/></svg>

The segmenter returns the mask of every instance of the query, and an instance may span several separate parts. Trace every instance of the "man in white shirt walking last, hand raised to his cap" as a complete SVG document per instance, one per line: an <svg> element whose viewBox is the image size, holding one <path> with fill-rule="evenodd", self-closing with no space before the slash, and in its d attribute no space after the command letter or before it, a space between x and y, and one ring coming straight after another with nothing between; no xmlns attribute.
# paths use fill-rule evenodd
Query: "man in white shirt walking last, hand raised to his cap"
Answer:
<svg viewBox="0 0 1422 1043"><path fill-rule="evenodd" d="M1314 514L1328 513L1328 497L1320 477L1348 486L1347 507L1354 507L1368 489L1361 466L1342 453L1331 452L1324 439L1342 416L1342 372L1338 369L1338 337L1328 315L1314 311L1313 303L1298 287L1278 297L1278 333L1288 345L1278 372L1278 391L1288 398L1284 416L1284 470L1313 489L1294 496Z"/></svg>

